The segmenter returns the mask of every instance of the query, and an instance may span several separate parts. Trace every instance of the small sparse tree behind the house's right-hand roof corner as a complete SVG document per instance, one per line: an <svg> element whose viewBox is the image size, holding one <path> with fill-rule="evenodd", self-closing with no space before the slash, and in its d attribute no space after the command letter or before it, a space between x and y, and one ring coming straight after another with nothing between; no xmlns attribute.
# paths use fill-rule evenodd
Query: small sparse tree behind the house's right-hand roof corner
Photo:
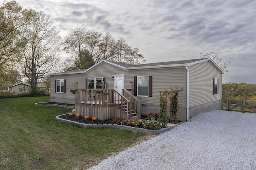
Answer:
<svg viewBox="0 0 256 170"><path fill-rule="evenodd" d="M220 69L222 69L222 71L224 72L224 74L222 74L222 80L224 80L224 77L227 76L228 74L228 64L231 62L224 62L224 60L222 60L222 58L219 56L220 53L216 53L213 51L209 51L208 53L204 53L204 51L202 53L200 53L200 58L201 59L207 59L207 58L211 58L214 63L216 63Z"/></svg>

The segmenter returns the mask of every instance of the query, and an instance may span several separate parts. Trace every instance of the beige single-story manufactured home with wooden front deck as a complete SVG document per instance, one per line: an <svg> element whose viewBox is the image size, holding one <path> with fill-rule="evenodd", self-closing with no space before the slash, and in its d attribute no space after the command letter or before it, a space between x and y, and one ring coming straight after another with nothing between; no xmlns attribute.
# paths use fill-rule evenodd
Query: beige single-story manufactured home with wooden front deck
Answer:
<svg viewBox="0 0 256 170"><path fill-rule="evenodd" d="M222 74L210 58L138 65L102 60L86 70L50 74L50 98L76 104L82 115L108 119L139 112L140 117L159 112L159 91L183 88L178 94L178 119L186 121L221 109Z"/></svg>

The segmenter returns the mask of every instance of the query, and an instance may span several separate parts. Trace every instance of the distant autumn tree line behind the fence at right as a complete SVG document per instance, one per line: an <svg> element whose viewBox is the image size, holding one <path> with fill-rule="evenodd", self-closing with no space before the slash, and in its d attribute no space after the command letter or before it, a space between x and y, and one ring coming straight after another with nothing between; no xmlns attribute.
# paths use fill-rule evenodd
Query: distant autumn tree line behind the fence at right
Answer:
<svg viewBox="0 0 256 170"><path fill-rule="evenodd" d="M222 84L222 98L234 100L256 100L256 84Z"/></svg>

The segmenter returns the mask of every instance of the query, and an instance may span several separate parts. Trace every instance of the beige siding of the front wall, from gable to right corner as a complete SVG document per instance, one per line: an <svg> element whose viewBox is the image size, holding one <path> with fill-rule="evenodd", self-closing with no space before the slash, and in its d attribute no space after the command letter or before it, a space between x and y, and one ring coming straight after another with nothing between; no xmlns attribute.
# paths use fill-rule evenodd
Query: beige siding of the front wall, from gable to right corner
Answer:
<svg viewBox="0 0 256 170"><path fill-rule="evenodd" d="M112 75L124 74L124 88L134 88L134 76L152 76L152 97L142 97L142 104L159 105L158 96L161 90L170 90L170 87L175 89L184 88L184 91L179 94L180 107L185 107L185 94L186 94L186 70L184 67L175 68L154 68L154 69L139 69L139 70L124 70L122 68L113 66L108 63L102 63L96 68L86 73L86 78L105 77L108 89L114 89L114 80Z"/></svg>

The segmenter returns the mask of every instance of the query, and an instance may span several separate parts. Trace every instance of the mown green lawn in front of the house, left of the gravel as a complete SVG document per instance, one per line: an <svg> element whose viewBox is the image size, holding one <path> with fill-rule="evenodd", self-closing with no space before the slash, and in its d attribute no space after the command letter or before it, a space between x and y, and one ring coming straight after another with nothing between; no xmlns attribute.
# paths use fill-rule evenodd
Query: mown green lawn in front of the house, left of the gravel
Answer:
<svg viewBox="0 0 256 170"><path fill-rule="evenodd" d="M0 99L0 169L86 169L147 136L57 121L71 109L34 106L49 101L49 96Z"/></svg>

